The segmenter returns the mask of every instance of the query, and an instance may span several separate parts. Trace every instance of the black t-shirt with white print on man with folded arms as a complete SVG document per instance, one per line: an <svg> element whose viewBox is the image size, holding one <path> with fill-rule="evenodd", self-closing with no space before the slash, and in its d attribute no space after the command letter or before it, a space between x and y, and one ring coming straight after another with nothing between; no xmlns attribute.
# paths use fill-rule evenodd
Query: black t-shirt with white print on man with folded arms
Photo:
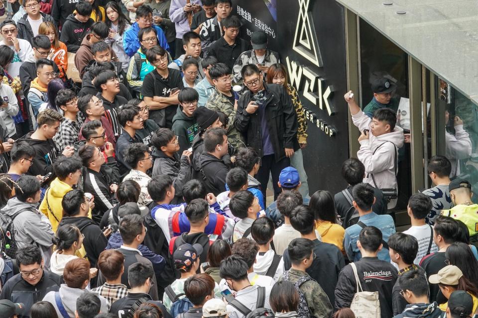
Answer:
<svg viewBox="0 0 478 318"><path fill-rule="evenodd" d="M178 70L168 69L169 74L166 79L162 78L156 70L152 71L143 80L141 95L145 97L169 97L172 88L183 89L183 79ZM154 120L159 127L171 129L173 126L173 117L176 115L178 105L169 105L166 108L149 111L149 119Z"/></svg>

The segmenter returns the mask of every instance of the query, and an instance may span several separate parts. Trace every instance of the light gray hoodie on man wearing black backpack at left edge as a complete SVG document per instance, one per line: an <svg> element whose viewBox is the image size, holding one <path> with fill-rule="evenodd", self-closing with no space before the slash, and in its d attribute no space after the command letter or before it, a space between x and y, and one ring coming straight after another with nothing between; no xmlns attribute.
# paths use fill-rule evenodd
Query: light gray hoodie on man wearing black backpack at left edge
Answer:
<svg viewBox="0 0 478 318"><path fill-rule="evenodd" d="M1 213L12 217L16 212L21 211L13 220L15 242L18 248L36 243L41 249L45 267L49 269L53 245L51 239L54 233L51 230L50 221L38 211L36 206L37 203L22 202L14 197L8 200L5 207L1 209Z"/></svg>

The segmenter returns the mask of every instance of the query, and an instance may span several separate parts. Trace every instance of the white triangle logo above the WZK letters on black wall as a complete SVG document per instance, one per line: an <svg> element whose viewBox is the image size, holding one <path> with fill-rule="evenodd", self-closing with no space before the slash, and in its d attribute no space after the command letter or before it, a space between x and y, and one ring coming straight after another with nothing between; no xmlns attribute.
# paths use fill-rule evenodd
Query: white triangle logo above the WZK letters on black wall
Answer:
<svg viewBox="0 0 478 318"><path fill-rule="evenodd" d="M317 36L312 13L310 12L311 1L313 0L299 0L299 16L292 48L316 66L322 67L322 57L317 45Z"/></svg>

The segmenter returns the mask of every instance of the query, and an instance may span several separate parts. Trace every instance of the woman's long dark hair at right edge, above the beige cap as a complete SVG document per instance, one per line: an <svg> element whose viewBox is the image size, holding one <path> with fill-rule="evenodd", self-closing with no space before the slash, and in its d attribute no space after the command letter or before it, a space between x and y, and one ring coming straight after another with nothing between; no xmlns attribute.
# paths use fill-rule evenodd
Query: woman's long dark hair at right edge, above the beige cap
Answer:
<svg viewBox="0 0 478 318"><path fill-rule="evenodd" d="M462 242L455 242L448 246L445 257L450 261L450 265L460 268L463 275L478 286L478 261L470 246Z"/></svg>

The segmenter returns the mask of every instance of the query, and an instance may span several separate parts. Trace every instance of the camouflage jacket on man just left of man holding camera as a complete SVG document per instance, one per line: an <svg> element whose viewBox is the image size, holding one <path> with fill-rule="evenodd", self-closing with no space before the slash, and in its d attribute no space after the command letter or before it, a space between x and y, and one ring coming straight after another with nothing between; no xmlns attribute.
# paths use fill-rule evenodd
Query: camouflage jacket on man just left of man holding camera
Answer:
<svg viewBox="0 0 478 318"><path fill-rule="evenodd" d="M215 111L221 111L228 116L228 140L231 145L234 146L236 150L240 147L244 147L244 138L241 133L234 126L234 121L236 120L237 111L234 109L234 105L231 104L229 99L219 92L217 89L213 91L211 96L209 96L206 107Z"/></svg>

